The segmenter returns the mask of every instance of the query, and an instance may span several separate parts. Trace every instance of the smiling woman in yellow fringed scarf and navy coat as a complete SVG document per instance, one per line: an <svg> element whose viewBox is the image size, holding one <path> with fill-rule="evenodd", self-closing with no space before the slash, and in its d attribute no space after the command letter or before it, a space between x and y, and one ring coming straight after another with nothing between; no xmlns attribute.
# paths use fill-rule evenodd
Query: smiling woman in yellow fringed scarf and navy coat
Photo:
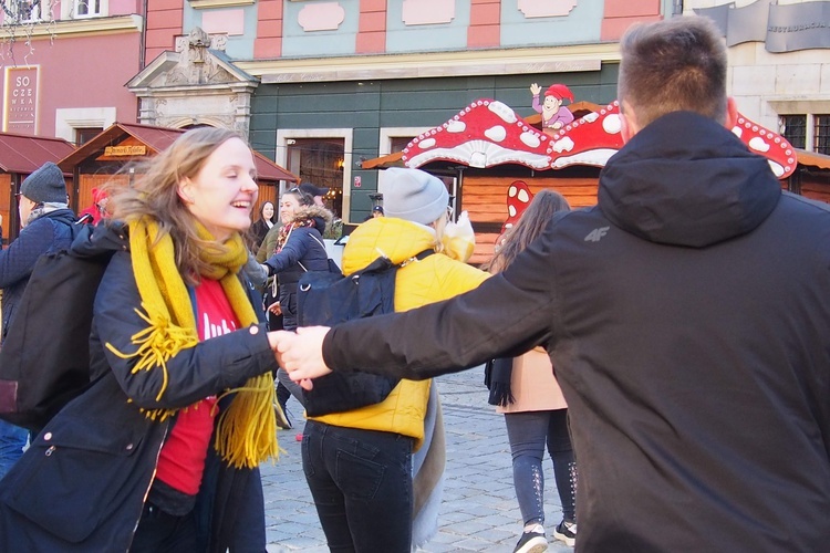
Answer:
<svg viewBox="0 0 830 553"><path fill-rule="evenodd" d="M2 551L264 551L277 363L239 276L253 156L236 133L200 128L136 174L110 187L113 222L82 244L112 255L90 388L7 480Z"/></svg>

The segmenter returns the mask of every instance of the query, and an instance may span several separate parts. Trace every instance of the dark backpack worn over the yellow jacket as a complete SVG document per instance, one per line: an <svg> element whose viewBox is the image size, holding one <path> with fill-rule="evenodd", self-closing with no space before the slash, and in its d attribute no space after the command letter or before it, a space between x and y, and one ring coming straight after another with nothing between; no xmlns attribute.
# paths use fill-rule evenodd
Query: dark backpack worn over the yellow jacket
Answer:
<svg viewBox="0 0 830 553"><path fill-rule="evenodd" d="M423 259L433 253L426 250ZM377 258L365 269L349 276L340 272L307 272L297 289L300 326L335 326L345 321L395 311L395 274L401 265ZM355 372L332 373L314 379L311 390L303 389L310 417L342 413L386 399L400 378Z"/></svg>

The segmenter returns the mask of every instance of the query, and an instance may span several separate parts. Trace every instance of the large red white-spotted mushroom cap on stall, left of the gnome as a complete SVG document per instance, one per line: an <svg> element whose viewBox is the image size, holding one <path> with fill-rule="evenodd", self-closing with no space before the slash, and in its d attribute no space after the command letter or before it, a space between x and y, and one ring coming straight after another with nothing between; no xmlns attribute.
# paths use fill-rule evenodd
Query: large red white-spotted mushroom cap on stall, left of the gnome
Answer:
<svg viewBox="0 0 830 553"><path fill-rule="evenodd" d="M479 168L520 164L544 169L550 161L548 140L506 104L485 98L414 138L402 158L412 168L442 159Z"/></svg>

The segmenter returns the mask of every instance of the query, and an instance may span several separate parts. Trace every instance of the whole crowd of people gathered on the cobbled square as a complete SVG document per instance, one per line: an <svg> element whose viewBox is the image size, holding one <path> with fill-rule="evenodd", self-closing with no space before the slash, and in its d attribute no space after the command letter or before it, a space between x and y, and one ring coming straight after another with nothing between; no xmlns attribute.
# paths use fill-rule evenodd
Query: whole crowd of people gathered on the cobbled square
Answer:
<svg viewBox="0 0 830 553"><path fill-rule="evenodd" d="M298 282L330 270L326 190L259 205L238 134L189 131L134 186L97 190L89 233L60 168L30 175L0 251L3 336L40 255L112 258L89 387L37 435L0 422L0 550L264 551L259 466L292 426L290 395L361 367L400 380L309 416L303 472L332 551L408 552L442 498L430 378L483 363L512 456L515 553L548 547L546 446L552 535L580 551L823 550L830 209L784 192L730 133L710 21L634 25L621 51L625 145L595 207L540 191L487 272L466 262L445 184L387 169L342 271L400 265L395 313L334 328L298 327Z"/></svg>

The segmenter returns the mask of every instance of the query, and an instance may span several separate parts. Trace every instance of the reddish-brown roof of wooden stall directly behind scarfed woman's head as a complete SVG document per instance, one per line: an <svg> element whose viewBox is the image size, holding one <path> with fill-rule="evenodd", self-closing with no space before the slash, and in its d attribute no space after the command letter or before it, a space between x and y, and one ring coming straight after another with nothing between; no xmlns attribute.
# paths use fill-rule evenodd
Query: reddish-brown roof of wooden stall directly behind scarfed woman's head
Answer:
<svg viewBox="0 0 830 553"><path fill-rule="evenodd" d="M149 150L147 155L154 156L166 149L183 133L185 133L185 129L181 128L156 127L134 123L114 123L75 152L61 159L58 165L64 171L72 171L72 169L90 157L102 155L107 146L116 146L129 137L145 145ZM299 182L300 180L297 175L280 167L259 152L253 152L253 161L257 167L257 179L260 181L277 182L287 180L289 182Z"/></svg>

